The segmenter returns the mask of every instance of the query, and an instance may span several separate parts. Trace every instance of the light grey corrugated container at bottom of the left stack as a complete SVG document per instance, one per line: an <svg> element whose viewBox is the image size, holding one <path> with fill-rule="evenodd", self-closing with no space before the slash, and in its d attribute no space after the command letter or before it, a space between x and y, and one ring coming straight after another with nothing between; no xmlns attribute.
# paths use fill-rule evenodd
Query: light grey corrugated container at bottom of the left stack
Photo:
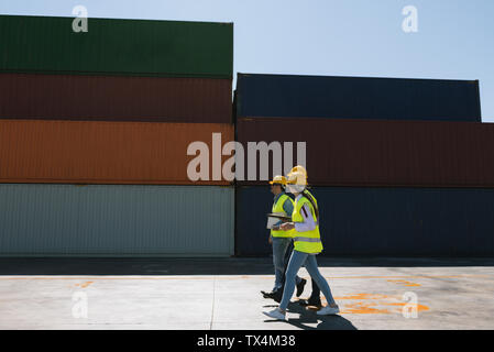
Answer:
<svg viewBox="0 0 494 352"><path fill-rule="evenodd" d="M0 185L0 255L230 256L233 188Z"/></svg>

